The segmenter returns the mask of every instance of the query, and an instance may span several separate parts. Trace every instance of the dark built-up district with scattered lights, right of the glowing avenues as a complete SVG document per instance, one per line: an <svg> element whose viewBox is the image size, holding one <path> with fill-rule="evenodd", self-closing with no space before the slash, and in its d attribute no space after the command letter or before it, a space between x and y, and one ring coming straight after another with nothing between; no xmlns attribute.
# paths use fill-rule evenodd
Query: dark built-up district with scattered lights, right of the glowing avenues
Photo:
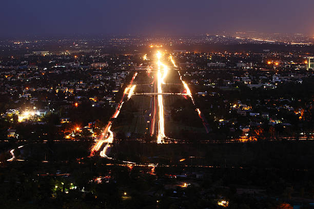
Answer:
<svg viewBox="0 0 314 209"><path fill-rule="evenodd" d="M291 89L287 89L290 94L284 92L284 88L301 91L304 82L310 85L312 57L268 50L258 54L178 53L173 56L194 63L181 66L184 79L197 91L195 97L203 106L202 112L209 112L209 123L214 121L211 128L218 132L222 129L224 133L227 128L230 140L239 135L243 140L250 136L253 140L257 136L274 138L274 135L287 139L313 138L312 128L303 128L312 120L310 95L302 97ZM269 127L276 127L276 131ZM259 129L268 136L265 133L262 136ZM238 135L234 134L237 132Z"/></svg>

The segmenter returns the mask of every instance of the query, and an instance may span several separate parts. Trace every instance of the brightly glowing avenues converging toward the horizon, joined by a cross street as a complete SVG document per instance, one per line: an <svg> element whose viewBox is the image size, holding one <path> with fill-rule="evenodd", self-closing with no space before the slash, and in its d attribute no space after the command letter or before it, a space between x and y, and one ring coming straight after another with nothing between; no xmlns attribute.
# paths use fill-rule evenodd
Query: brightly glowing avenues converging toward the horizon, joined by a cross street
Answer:
<svg viewBox="0 0 314 209"><path fill-rule="evenodd" d="M156 54L155 54L155 68L156 71L154 71L154 81L152 83L149 83L149 84L145 84L145 85L153 85L153 89L152 89L152 92L150 93L134 93L134 90L136 88L136 85L133 85L133 81L136 77L136 75L138 73L135 73L134 76L132 77L132 80L130 82L130 85L125 89L124 91L124 94L122 96L122 99L118 105L118 107L116 108L116 111L115 113L113 114L113 116L111 117L111 120L108 122L107 126L105 127L104 131L103 131L103 134L100 138L100 140L98 140L94 146L92 147L91 149L91 153L90 153L90 156L93 156L96 152L98 152L102 147L103 147L103 144L105 143L105 146L103 148L103 150L100 152L100 156L101 157L105 157L107 159L112 159L110 157L108 157L106 155L106 152L108 150L108 148L110 148L110 143L112 143L113 141L113 132L110 130L111 129L111 126L112 126L112 120L114 118L116 118L119 113L120 113L120 110L122 108L122 105L124 103L124 98L125 96L127 95L127 98L129 99L132 95L149 95L149 96L152 96L152 101L151 101L151 125L150 125L150 135L152 136L154 134L154 130L155 130L155 121L156 119L158 118L158 130L156 133L157 134L157 143L164 143L165 142L165 139L170 139L168 137L166 137L165 135L165 121L164 121L164 99L163 99L163 95L182 95L182 96L189 96L193 102L193 105L195 106L195 102L194 102L194 99L192 97L192 94L191 94L191 91L187 85L187 83L185 81L182 80L182 76L180 75L180 72L178 71L179 73L179 76L180 76L180 80L182 82L182 85L184 86L185 88L185 92L186 93L164 93L163 92L163 85L179 85L178 83L165 83L165 78L168 74L168 66L166 66L163 61L162 61L162 58L164 57L165 54L162 54L160 51L157 51ZM172 59L171 56L169 56L168 58L173 66L176 68L177 66L175 65L175 62L174 60ZM144 60L147 60L147 55L145 54L144 55ZM153 68L152 67L148 67L147 68L147 73L150 74L152 71ZM156 91L157 90L157 91ZM156 99L157 97L157 99ZM157 100L157 102L156 102ZM156 103L158 103L158 108L156 108ZM156 117L156 110L158 110L158 117ZM202 117L202 114L201 114L201 111L199 108L195 108L195 111L198 112L198 115L199 117L202 119L202 122L204 124L204 127L206 129L206 132L208 133L208 129L206 127L206 124L205 124L205 120L204 118ZM171 140L171 139L170 139ZM175 139L173 139L175 140ZM136 163L133 163L133 162L128 162L128 161L122 161L124 163L128 163L128 164L136 164Z"/></svg>

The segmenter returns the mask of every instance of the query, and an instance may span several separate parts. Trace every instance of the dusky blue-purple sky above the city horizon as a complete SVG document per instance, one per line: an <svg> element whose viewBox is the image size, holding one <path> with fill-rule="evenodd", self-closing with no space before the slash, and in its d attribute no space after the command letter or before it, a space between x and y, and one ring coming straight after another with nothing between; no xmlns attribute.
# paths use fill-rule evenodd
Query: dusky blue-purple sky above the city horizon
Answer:
<svg viewBox="0 0 314 209"><path fill-rule="evenodd" d="M313 0L7 0L0 5L2 37L223 30L314 34Z"/></svg>

